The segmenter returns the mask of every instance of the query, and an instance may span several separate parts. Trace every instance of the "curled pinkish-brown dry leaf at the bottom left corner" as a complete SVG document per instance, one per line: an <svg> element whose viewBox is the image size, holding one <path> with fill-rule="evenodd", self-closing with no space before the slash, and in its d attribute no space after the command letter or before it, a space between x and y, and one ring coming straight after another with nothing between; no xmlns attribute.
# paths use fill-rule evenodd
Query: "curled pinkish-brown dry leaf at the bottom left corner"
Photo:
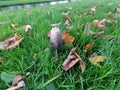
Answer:
<svg viewBox="0 0 120 90"><path fill-rule="evenodd" d="M12 87L8 88L7 90L19 90L21 87L26 86L24 80L25 80L24 76L21 75L15 76L12 82Z"/></svg>

